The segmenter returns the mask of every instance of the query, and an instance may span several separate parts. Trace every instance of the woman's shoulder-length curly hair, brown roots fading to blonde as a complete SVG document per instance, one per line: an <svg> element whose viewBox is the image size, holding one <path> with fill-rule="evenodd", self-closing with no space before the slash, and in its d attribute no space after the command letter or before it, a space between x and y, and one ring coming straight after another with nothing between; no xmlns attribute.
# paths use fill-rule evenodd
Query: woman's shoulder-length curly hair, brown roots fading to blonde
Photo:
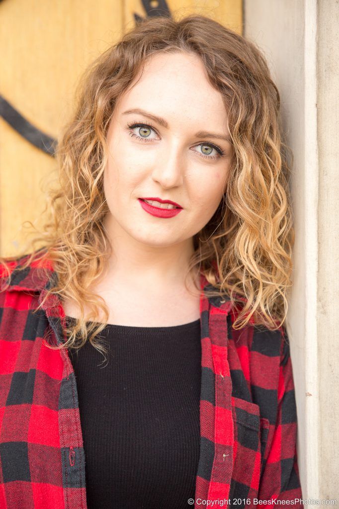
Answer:
<svg viewBox="0 0 339 509"><path fill-rule="evenodd" d="M214 295L227 294L234 306L241 302L235 329L251 321L275 330L286 319L294 243L290 152L281 140L279 93L265 58L255 44L208 17L152 17L101 54L80 79L75 111L56 149L60 186L49 191L44 211L49 217L34 234L32 253L22 265L37 255L48 258L58 281L45 298L54 293L79 306L81 318L67 329L61 345L66 348L80 348L89 338L105 352L96 337L108 321L108 308L90 286L104 275L111 255L103 228L109 212L103 173L112 112L147 59L177 51L194 53L203 62L222 95L233 145L227 189L211 220L194 236L189 272L199 267ZM44 249L38 250L37 243ZM1 261L7 267L14 258ZM99 309L104 321L87 322L97 319Z"/></svg>

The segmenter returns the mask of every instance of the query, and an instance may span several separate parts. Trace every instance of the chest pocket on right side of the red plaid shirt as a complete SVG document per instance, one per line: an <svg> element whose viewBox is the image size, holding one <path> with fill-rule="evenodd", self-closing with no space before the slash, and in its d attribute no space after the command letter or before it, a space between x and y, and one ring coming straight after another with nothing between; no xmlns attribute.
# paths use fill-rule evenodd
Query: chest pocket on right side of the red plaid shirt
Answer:
<svg viewBox="0 0 339 509"><path fill-rule="evenodd" d="M232 397L232 401L235 455L230 498L243 498L245 487L259 489L269 420L261 417L260 407L256 403L235 397ZM238 509L244 506L236 505Z"/></svg>

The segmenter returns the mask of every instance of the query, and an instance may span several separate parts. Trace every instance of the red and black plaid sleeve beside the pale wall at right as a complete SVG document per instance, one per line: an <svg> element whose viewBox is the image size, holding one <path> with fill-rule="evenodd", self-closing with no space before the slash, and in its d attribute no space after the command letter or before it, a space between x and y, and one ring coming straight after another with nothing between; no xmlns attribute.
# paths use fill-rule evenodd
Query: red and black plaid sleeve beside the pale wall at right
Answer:
<svg viewBox="0 0 339 509"><path fill-rule="evenodd" d="M268 433L258 498L263 502L294 500L293 507L304 507L297 462L297 411L290 345L285 328L281 332L276 422L271 423ZM272 502L267 505L272 506Z"/></svg>

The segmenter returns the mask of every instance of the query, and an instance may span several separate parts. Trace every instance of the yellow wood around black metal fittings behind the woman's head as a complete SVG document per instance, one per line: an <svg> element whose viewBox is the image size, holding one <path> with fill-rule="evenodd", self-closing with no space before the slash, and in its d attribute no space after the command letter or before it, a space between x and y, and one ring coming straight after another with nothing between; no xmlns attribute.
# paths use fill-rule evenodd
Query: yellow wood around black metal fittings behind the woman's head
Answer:
<svg viewBox="0 0 339 509"><path fill-rule="evenodd" d="M238 33L242 31L242 0L167 3L179 18L204 14ZM79 76L121 37L122 31L134 25L134 12L146 17L139 0L1 2L0 94L32 124L57 137L73 108ZM56 178L54 159L26 142L0 118L2 256L16 254L24 245L24 221L41 224L51 178Z"/></svg>

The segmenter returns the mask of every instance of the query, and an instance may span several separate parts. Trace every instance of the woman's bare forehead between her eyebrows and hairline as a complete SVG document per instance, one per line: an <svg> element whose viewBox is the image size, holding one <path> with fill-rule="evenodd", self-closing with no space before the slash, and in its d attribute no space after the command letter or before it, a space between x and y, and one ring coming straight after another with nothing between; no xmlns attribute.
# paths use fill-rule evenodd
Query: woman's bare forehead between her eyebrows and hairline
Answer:
<svg viewBox="0 0 339 509"><path fill-rule="evenodd" d="M171 120L209 122L224 127L227 111L212 87L204 64L194 53L156 53L144 65L117 104L120 112L141 108ZM212 123L212 124L211 124Z"/></svg>

